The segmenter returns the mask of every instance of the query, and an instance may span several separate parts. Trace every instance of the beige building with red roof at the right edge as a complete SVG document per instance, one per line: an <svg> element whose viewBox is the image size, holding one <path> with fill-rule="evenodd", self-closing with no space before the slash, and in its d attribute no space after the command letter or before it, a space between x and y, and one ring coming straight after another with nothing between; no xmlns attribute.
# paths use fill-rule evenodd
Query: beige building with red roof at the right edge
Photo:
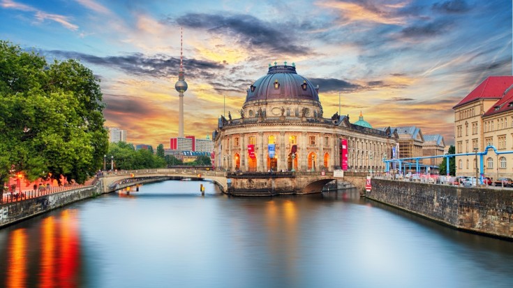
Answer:
<svg viewBox="0 0 513 288"><path fill-rule="evenodd" d="M479 171L477 152L493 145L499 152L513 150L513 76L489 76L452 109L456 175L475 176ZM476 165L477 164L477 165ZM513 177L513 154L484 156L484 176Z"/></svg>

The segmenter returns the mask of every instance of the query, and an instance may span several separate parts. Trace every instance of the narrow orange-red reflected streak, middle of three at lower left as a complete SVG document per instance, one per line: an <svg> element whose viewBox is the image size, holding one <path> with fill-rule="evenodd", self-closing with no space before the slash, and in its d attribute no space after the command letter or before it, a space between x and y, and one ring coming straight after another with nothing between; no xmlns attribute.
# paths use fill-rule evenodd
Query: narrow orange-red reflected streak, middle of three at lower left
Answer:
<svg viewBox="0 0 513 288"><path fill-rule="evenodd" d="M50 216L41 223L40 287L55 287L55 221Z"/></svg>

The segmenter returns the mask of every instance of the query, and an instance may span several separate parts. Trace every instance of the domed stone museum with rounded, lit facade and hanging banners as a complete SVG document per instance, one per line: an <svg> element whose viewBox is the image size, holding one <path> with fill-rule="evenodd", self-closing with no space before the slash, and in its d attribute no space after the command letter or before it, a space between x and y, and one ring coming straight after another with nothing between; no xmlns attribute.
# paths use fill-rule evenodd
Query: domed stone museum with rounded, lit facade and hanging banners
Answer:
<svg viewBox="0 0 513 288"><path fill-rule="evenodd" d="M247 89L240 117L221 116L213 133L214 166L228 171L384 171L399 136L372 129L362 115L325 117L319 87L295 64L269 65Z"/></svg>

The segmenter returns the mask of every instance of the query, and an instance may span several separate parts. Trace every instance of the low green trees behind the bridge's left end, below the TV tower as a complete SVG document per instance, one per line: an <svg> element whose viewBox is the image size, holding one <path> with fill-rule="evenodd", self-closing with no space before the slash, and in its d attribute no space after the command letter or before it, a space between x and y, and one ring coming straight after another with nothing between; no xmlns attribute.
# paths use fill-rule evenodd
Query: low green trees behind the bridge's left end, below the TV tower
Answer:
<svg viewBox="0 0 513 288"><path fill-rule="evenodd" d="M110 143L107 159L114 159L114 169L137 170L145 168L165 168L165 160L151 153L149 150L135 151L132 144L124 142ZM110 164L107 165L110 169Z"/></svg>

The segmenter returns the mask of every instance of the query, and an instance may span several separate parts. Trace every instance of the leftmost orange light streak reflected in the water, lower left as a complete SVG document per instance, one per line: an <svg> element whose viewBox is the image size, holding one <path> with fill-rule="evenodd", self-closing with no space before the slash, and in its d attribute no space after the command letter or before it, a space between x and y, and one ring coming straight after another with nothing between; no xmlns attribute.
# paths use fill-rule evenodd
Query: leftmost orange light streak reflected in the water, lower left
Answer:
<svg viewBox="0 0 513 288"><path fill-rule="evenodd" d="M27 233L17 229L11 235L8 260L7 287L26 287L27 280Z"/></svg>

